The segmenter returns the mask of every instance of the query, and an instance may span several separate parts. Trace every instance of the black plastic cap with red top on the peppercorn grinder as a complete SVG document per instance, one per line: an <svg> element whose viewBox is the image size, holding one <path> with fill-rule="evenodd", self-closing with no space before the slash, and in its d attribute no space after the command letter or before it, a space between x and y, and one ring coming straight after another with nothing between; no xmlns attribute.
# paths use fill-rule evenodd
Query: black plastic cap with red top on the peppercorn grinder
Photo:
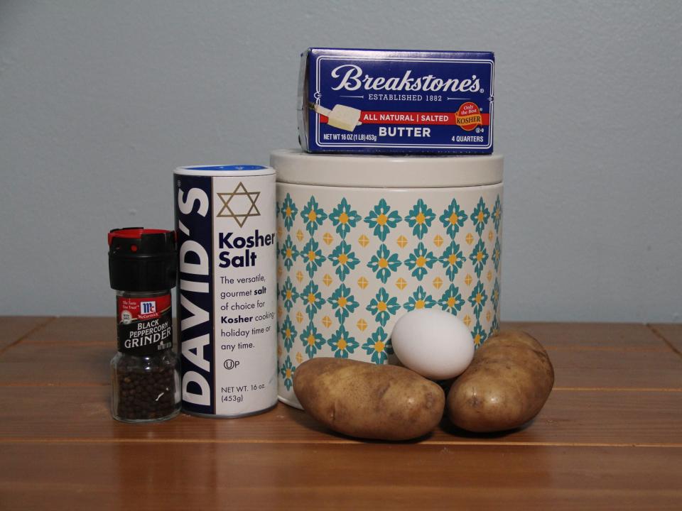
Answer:
<svg viewBox="0 0 682 511"><path fill-rule="evenodd" d="M108 241L112 289L151 292L175 287L175 231L125 227L109 231Z"/></svg>

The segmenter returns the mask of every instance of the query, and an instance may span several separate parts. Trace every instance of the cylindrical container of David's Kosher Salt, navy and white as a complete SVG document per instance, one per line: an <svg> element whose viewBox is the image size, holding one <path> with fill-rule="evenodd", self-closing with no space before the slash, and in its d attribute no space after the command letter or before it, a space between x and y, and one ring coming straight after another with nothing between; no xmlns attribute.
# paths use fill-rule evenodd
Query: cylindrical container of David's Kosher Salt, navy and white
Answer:
<svg viewBox="0 0 682 511"><path fill-rule="evenodd" d="M277 402L275 171L175 170L183 411L243 417Z"/></svg>

